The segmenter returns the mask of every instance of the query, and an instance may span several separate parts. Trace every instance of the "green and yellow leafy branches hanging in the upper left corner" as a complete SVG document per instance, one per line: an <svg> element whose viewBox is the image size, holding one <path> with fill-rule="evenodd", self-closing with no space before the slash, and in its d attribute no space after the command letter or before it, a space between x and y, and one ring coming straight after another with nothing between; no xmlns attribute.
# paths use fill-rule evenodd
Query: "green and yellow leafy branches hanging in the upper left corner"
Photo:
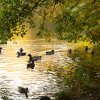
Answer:
<svg viewBox="0 0 100 100"><path fill-rule="evenodd" d="M6 43L14 35L23 37L26 34L23 23L26 20L32 28L34 27L32 11L37 4L38 2L33 0L0 1L0 43Z"/></svg>

